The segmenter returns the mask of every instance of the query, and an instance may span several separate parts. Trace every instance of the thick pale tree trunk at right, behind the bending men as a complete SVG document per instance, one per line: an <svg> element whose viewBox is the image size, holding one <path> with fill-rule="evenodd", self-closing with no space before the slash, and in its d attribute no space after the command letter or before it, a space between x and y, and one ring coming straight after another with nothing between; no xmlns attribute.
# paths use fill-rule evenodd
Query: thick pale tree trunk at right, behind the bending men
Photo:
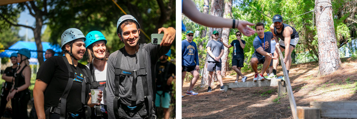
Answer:
<svg viewBox="0 0 357 119"><path fill-rule="evenodd" d="M341 66L332 19L331 0L315 0L315 9L319 9L315 11L318 35L318 71L319 75L327 75Z"/></svg>

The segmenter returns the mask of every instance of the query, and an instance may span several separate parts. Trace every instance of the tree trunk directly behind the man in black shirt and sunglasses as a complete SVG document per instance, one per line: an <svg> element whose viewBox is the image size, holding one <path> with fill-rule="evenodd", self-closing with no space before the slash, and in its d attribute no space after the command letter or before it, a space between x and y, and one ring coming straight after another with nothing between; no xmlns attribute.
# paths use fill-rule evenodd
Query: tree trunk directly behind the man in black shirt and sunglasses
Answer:
<svg viewBox="0 0 357 119"><path fill-rule="evenodd" d="M227 0L224 6L223 18L232 18L232 0ZM228 44L230 28L223 28L222 31L222 43ZM222 56L222 76L226 76L227 64L228 64L229 49L224 47L224 53Z"/></svg>

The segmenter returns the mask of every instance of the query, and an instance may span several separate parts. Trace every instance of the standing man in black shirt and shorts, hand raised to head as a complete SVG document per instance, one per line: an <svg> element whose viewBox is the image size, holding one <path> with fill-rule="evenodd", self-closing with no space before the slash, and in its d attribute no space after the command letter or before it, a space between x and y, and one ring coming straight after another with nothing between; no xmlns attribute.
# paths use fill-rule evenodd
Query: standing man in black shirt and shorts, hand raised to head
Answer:
<svg viewBox="0 0 357 119"><path fill-rule="evenodd" d="M239 76L242 77L242 82L245 82L247 80L247 76L244 76L241 72L242 67L244 66L244 47L245 47L245 41L241 39L242 34L240 31L236 32L236 40L233 40L230 45L227 45L223 43L223 45L227 48L231 48L234 46L234 49L232 51L232 68L234 71L237 73L237 78L236 82L238 82Z"/></svg>

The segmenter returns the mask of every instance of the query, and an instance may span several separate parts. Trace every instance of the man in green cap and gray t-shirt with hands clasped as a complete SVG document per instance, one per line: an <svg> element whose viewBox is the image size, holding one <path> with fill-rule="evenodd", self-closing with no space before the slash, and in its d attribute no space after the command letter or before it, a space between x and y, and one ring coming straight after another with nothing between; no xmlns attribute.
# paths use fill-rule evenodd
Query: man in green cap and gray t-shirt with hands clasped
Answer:
<svg viewBox="0 0 357 119"><path fill-rule="evenodd" d="M221 88L220 90L224 90L224 85L222 81L222 75L221 75L221 68L222 68L222 60L221 57L224 52L224 47L223 43L221 41L218 41L218 37L220 35L218 34L218 31L213 31L212 33L212 40L208 41L207 43L207 53L210 56L207 56L208 59L208 64L207 64L207 70L210 71L208 75L208 90L207 92L211 92L211 81L212 81L212 74L213 71L216 71L217 73L217 79L220 81Z"/></svg>

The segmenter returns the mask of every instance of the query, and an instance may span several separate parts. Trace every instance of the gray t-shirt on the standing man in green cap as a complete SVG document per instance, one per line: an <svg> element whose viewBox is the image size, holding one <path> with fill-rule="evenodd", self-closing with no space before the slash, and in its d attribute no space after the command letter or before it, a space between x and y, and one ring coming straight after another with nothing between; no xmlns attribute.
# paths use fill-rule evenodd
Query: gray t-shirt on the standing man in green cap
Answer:
<svg viewBox="0 0 357 119"><path fill-rule="evenodd" d="M220 56L221 50L224 49L223 43L221 41L215 41L215 40L210 40L208 41L206 48L211 47L212 54L215 55L215 57ZM212 61L215 62L216 60L211 57L211 55L208 55L207 61ZM220 63L222 60L220 59Z"/></svg>

